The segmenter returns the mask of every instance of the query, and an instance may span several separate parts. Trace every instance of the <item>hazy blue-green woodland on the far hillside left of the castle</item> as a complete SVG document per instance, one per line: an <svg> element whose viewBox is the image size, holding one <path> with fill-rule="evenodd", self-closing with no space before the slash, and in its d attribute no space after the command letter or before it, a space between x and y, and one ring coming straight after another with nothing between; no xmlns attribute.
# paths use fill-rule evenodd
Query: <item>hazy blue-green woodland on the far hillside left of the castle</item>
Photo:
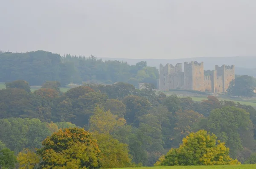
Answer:
<svg viewBox="0 0 256 169"><path fill-rule="evenodd" d="M46 51L27 53L0 52L0 82L25 80L30 85L58 81L62 86L71 82L97 82L113 84L128 82L137 87L138 82L156 86L158 70L147 67L146 62L128 65L126 62L105 61L95 56L60 56Z"/></svg>

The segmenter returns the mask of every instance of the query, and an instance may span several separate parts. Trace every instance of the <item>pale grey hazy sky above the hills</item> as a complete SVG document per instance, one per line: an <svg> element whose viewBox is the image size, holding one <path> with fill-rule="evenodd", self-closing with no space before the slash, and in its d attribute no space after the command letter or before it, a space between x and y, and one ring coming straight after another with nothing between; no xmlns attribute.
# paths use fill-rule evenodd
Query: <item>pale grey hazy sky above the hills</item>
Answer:
<svg viewBox="0 0 256 169"><path fill-rule="evenodd" d="M256 56L256 0L0 0L0 49L116 58Z"/></svg>

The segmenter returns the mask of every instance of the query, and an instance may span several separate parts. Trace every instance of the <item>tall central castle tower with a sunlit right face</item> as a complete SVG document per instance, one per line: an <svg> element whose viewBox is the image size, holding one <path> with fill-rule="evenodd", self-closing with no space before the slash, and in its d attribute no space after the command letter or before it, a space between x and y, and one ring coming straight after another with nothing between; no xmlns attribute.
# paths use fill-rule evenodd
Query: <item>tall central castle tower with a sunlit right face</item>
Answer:
<svg viewBox="0 0 256 169"><path fill-rule="evenodd" d="M184 89L205 91L203 62L184 62Z"/></svg>

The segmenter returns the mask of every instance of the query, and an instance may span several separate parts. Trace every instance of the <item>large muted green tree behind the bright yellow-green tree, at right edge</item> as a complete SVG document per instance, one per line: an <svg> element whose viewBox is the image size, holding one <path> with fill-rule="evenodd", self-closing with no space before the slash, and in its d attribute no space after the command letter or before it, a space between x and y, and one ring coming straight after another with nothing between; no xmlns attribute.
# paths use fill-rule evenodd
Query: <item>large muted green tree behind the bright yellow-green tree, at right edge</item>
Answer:
<svg viewBox="0 0 256 169"><path fill-rule="evenodd" d="M250 114L238 107L223 107L212 110L207 121L207 130L226 142L231 156L244 147L253 148L253 124Z"/></svg>

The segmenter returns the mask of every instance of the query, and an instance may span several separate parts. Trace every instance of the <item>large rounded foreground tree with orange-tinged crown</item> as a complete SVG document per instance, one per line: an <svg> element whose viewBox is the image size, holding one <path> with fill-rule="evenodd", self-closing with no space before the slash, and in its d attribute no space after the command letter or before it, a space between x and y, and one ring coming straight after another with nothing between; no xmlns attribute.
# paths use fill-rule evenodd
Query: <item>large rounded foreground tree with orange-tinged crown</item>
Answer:
<svg viewBox="0 0 256 169"><path fill-rule="evenodd" d="M42 167L51 169L99 168L99 147L84 129L59 130L46 138L38 149Z"/></svg>

